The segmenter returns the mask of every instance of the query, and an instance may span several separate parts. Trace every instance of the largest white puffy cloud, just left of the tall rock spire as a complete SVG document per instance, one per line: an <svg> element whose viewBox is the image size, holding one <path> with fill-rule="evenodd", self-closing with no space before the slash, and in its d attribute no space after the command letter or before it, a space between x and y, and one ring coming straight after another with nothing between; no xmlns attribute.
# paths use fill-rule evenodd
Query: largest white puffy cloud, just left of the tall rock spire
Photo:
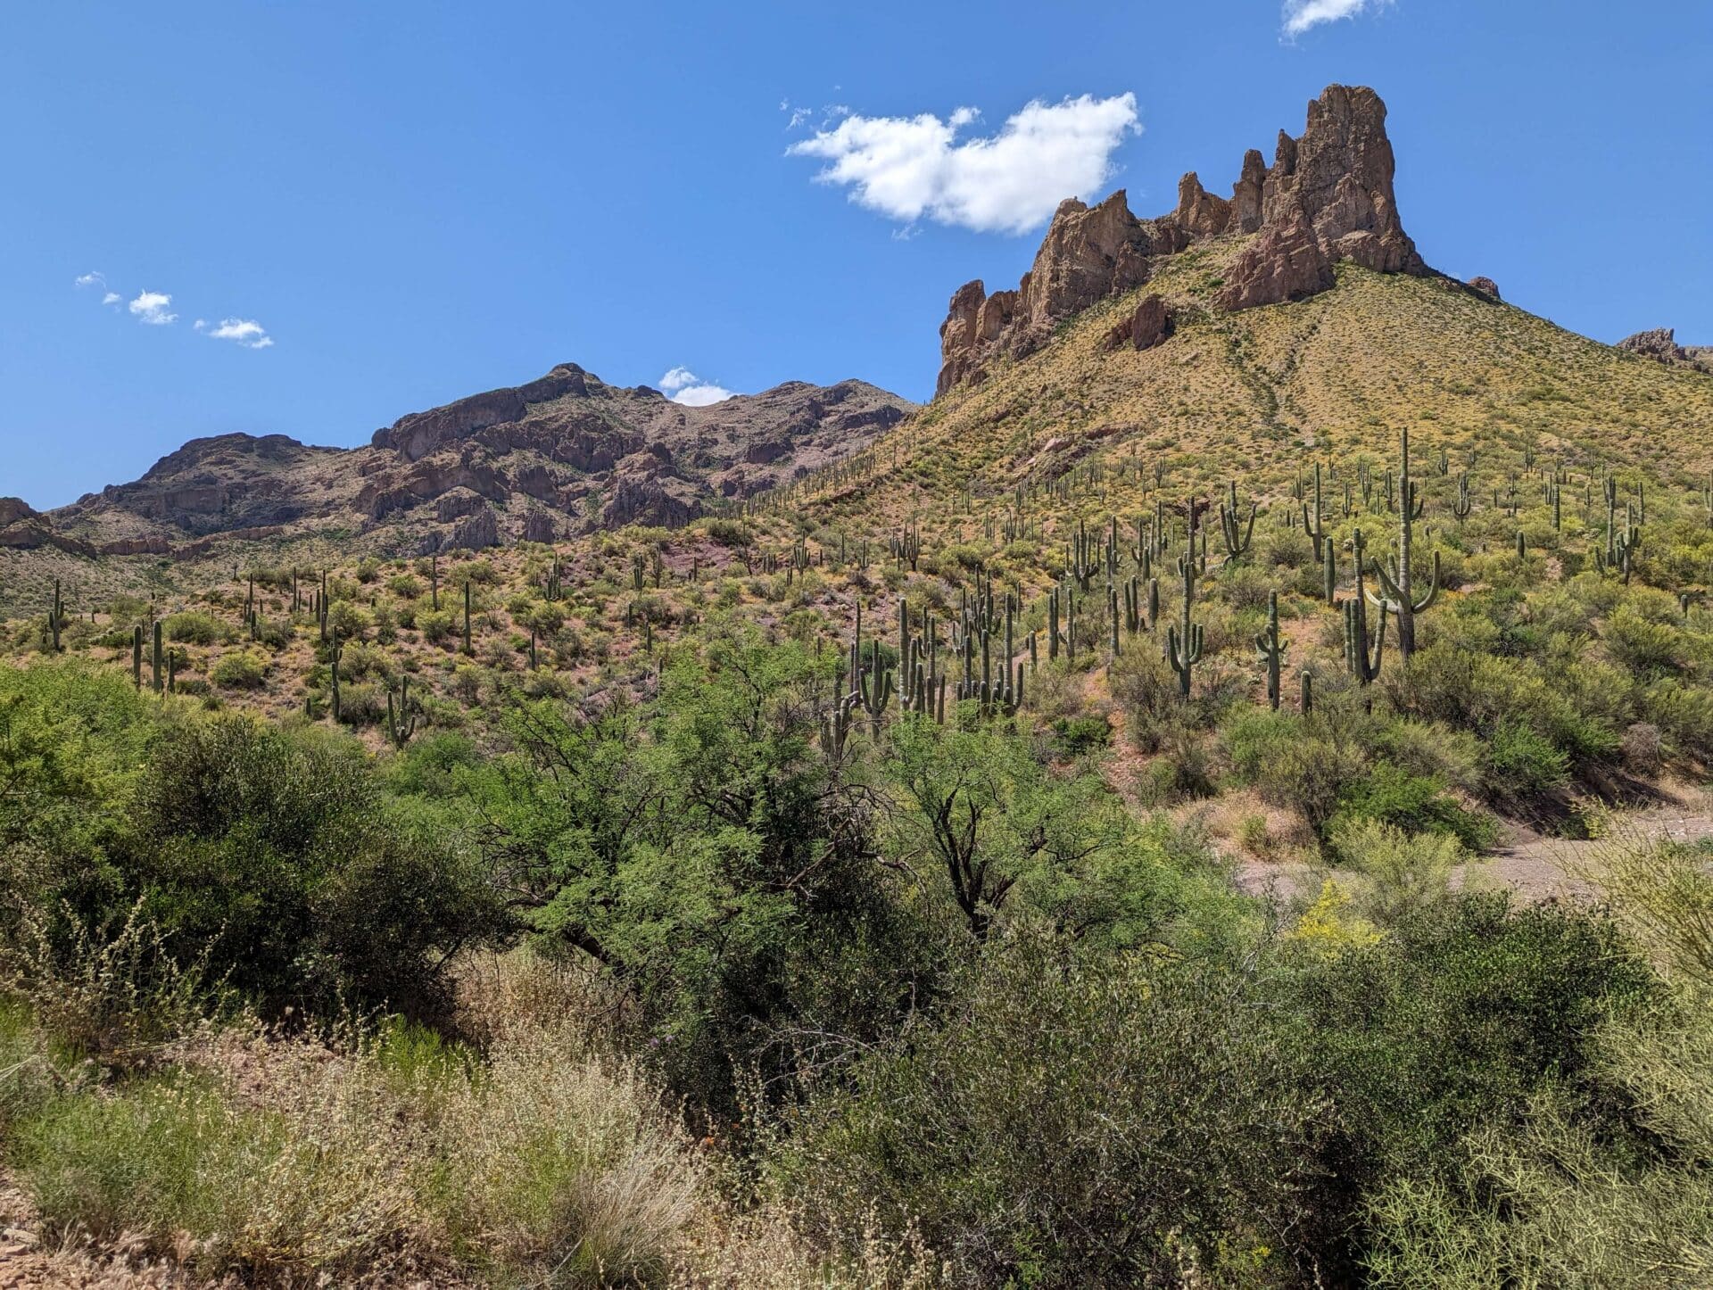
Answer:
<svg viewBox="0 0 1713 1290"><path fill-rule="evenodd" d="M1113 149L1141 130L1134 94L1035 99L997 134L959 142L978 116L975 108L944 120L851 115L786 152L826 159L819 182L848 185L853 202L892 219L1026 233L1065 197L1093 195L1112 176Z"/></svg>

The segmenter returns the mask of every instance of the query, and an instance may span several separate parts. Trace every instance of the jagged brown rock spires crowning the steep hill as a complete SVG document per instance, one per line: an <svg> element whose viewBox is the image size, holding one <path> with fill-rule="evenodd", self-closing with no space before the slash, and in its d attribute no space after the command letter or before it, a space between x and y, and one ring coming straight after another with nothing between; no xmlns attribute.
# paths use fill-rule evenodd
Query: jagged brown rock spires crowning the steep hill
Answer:
<svg viewBox="0 0 1713 1290"><path fill-rule="evenodd" d="M1209 194L1192 171L1179 182L1177 207L1158 219L1132 216L1122 190L1095 207L1069 199L1016 291L987 295L975 281L952 295L937 392L980 380L995 358L1033 353L1060 320L1141 286L1160 257L1197 243L1249 238L1216 302L1227 310L1324 291L1340 260L1425 274L1398 219L1393 171L1379 94L1329 86L1309 105L1300 137L1280 132L1271 166L1254 149L1245 154L1230 197Z"/></svg>

